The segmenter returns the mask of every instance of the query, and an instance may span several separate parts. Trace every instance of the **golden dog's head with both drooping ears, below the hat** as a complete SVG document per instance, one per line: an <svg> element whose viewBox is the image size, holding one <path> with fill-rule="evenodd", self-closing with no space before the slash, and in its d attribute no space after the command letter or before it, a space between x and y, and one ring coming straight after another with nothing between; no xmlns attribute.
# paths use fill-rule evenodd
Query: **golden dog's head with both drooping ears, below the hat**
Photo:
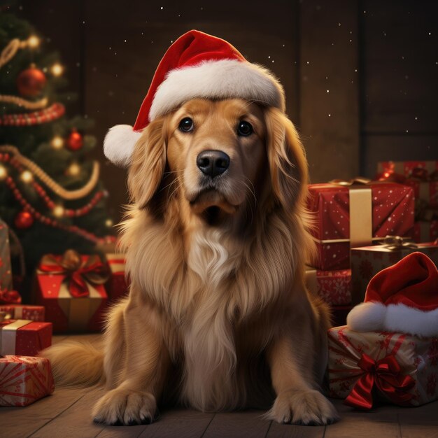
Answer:
<svg viewBox="0 0 438 438"><path fill-rule="evenodd" d="M143 132L128 184L140 208L164 210L178 197L218 226L263 204L262 196L290 211L306 175L302 145L281 111L242 99L192 99Z"/></svg>

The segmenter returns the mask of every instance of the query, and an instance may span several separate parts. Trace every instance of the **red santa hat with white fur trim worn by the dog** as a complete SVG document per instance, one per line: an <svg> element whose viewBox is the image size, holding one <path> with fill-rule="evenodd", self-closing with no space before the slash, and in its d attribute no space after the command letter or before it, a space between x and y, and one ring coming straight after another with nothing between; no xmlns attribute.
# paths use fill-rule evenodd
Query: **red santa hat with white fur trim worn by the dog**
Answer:
<svg viewBox="0 0 438 438"><path fill-rule="evenodd" d="M240 97L285 111L283 87L271 72L246 61L227 41L191 30L170 46L158 64L134 127L116 125L106 134L108 160L129 164L134 145L149 122L196 97Z"/></svg>

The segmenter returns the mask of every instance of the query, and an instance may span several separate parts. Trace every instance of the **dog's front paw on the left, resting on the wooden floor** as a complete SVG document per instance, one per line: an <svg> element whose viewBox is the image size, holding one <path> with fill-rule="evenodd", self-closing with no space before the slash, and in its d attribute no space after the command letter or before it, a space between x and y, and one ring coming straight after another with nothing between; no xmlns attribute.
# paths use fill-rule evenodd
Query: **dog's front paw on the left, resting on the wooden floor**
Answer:
<svg viewBox="0 0 438 438"><path fill-rule="evenodd" d="M96 423L136 425L152 423L157 402L150 393L115 388L94 405L92 416Z"/></svg>

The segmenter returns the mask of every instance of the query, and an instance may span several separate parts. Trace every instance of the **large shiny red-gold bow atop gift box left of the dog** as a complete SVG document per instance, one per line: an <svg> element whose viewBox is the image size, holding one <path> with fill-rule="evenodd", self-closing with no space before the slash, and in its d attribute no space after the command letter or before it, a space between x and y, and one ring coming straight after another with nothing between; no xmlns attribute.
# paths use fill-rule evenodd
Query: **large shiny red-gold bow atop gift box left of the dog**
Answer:
<svg viewBox="0 0 438 438"><path fill-rule="evenodd" d="M75 250L66 250L62 259L53 255L45 255L39 266L48 274L64 275L72 297L87 297L90 295L88 283L103 284L108 280L108 269L97 255L90 255L87 261Z"/></svg>

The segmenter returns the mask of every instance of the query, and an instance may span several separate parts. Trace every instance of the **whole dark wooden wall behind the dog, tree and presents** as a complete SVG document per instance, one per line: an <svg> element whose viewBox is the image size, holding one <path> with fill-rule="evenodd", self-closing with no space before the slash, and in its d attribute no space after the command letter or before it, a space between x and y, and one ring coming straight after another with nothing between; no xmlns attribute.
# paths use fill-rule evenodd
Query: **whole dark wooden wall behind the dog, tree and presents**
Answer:
<svg viewBox="0 0 438 438"><path fill-rule="evenodd" d="M379 160L438 160L438 1L23 1L22 17L59 50L69 113L133 125L155 68L199 29L281 79L311 181L373 177ZM94 153L117 217L125 170Z"/></svg>

